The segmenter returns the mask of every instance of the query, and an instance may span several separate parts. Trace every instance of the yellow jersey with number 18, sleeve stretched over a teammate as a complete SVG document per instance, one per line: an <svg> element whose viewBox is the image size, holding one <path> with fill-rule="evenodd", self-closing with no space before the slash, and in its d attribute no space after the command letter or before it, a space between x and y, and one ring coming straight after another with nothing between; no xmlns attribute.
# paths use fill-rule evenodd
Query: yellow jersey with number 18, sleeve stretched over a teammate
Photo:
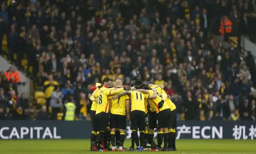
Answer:
<svg viewBox="0 0 256 154"><path fill-rule="evenodd" d="M97 98L96 115L102 112L108 113L108 110L109 110L108 96L118 94L123 90L124 88L119 88L116 90L108 90L100 93L95 93L93 97Z"/></svg>

